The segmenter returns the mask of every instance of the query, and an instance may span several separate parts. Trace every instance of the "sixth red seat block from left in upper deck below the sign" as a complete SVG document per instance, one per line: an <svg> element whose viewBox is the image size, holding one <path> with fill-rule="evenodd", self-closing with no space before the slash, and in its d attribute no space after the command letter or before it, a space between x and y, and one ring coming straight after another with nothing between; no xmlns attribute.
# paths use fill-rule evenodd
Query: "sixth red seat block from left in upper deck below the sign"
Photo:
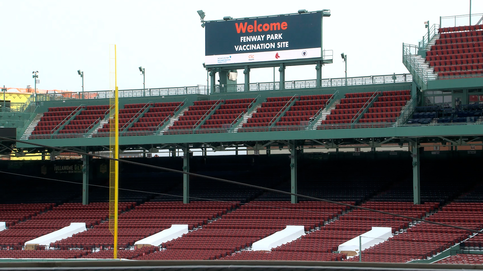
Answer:
<svg viewBox="0 0 483 271"><path fill-rule="evenodd" d="M255 99L231 99L225 100L225 104L216 109L213 115L201 125L200 129L219 129L231 128L244 113L248 111L248 106ZM215 132L216 130L205 130L206 133ZM201 131L200 131L201 132Z"/></svg>

